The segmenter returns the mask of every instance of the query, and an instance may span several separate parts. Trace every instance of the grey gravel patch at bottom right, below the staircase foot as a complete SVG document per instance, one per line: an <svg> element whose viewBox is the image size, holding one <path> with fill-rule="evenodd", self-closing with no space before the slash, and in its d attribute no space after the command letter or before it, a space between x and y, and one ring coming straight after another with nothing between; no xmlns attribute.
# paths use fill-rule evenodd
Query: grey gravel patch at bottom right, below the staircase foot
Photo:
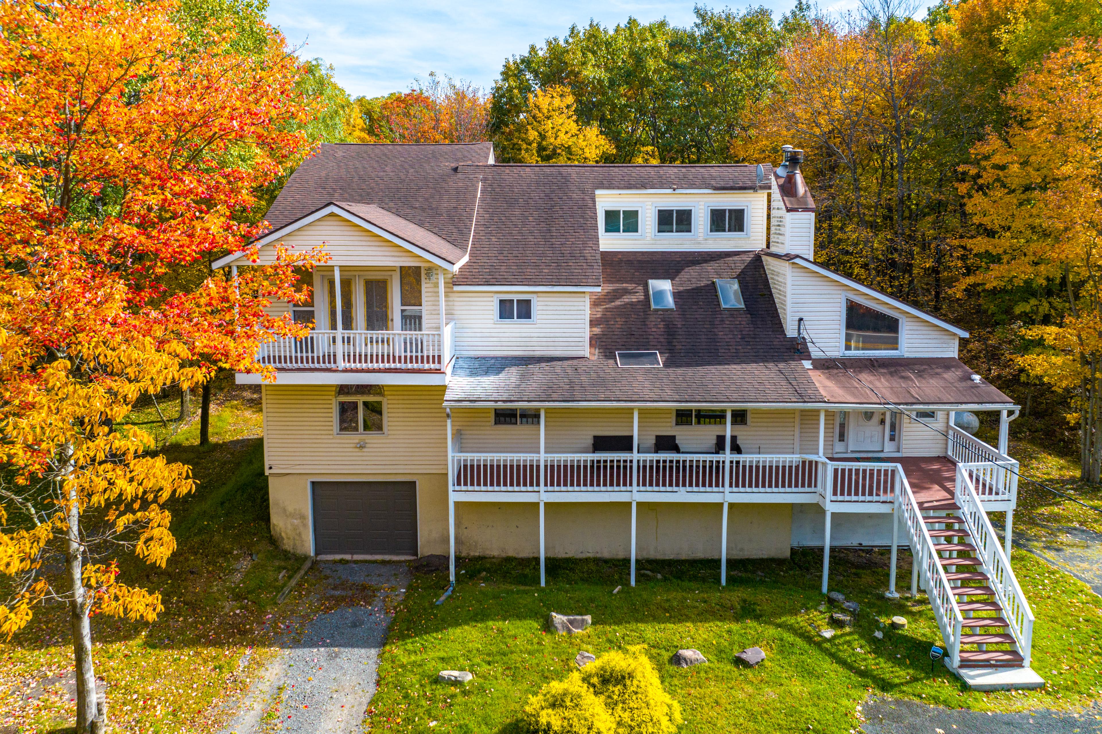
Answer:
<svg viewBox="0 0 1102 734"><path fill-rule="evenodd" d="M1080 713L1028 711L983 713L929 706L917 701L871 697L863 706L865 734L1096 734L1102 732L1102 706Z"/></svg>

